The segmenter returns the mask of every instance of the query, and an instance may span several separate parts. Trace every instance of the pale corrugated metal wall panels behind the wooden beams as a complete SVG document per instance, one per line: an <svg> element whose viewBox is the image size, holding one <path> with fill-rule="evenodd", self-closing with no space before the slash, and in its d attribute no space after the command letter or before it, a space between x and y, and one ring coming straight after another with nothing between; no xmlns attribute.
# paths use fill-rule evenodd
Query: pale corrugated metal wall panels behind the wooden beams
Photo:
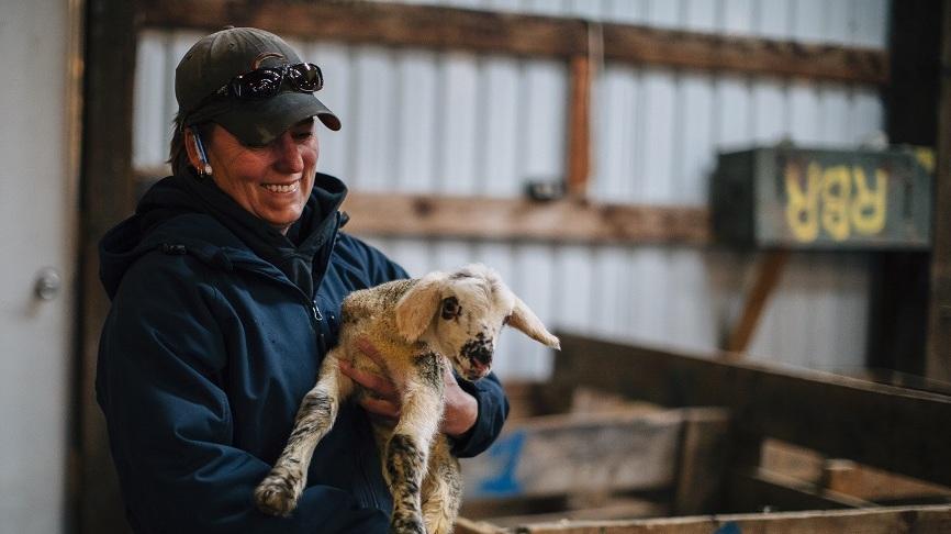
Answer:
<svg viewBox="0 0 951 534"><path fill-rule="evenodd" d="M713 33L884 48L887 0L469 0L426 2ZM171 73L200 35L142 35L135 155L166 157ZM557 60L294 42L324 69L321 99L344 130L321 136L320 167L355 190L521 194L563 175L568 73ZM788 138L854 146L882 127L868 87L713 76L607 64L594 99L596 199L706 202L718 151ZM414 275L479 260L552 327L712 348L735 320L757 258L680 246L372 240ZM752 358L855 369L865 351L868 257L801 254L787 264ZM547 352L510 333L503 378L545 379Z"/></svg>

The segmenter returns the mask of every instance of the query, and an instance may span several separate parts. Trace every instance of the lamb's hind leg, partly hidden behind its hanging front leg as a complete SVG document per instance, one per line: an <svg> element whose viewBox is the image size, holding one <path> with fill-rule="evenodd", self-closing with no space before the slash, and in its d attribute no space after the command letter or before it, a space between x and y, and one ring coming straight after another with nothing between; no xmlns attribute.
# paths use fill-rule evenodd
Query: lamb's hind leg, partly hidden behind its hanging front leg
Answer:
<svg viewBox="0 0 951 534"><path fill-rule="evenodd" d="M462 502L459 460L449 452L446 436L437 436L423 480L423 520L428 534L451 534Z"/></svg>

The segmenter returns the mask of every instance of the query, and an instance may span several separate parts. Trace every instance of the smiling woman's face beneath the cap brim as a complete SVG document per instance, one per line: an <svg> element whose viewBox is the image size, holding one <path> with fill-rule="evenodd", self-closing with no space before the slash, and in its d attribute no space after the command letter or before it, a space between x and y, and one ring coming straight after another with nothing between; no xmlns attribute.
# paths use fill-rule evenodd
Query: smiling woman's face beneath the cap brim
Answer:
<svg viewBox="0 0 951 534"><path fill-rule="evenodd" d="M243 145L217 124L205 143L215 185L242 208L287 233L314 187L320 152L314 119L294 124L260 147Z"/></svg>

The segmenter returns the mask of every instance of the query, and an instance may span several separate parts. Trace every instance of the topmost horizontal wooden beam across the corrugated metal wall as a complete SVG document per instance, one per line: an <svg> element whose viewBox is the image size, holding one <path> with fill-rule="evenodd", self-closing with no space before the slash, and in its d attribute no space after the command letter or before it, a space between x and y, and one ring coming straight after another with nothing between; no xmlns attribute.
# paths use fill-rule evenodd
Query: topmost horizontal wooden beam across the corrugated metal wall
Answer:
<svg viewBox="0 0 951 534"><path fill-rule="evenodd" d="M377 2L147 0L144 27L264 27L305 38L567 58L588 49L578 19ZM602 24L604 57L674 68L884 85L886 53L624 24Z"/></svg>

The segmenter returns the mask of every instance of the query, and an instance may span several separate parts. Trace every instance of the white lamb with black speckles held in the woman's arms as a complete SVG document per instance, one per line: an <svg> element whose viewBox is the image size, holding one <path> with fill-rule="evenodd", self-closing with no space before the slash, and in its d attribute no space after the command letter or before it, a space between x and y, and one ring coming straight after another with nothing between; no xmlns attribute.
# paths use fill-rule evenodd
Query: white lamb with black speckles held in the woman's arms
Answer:
<svg viewBox="0 0 951 534"><path fill-rule="evenodd" d="M344 300L342 320L339 344L327 354L317 385L304 397L283 453L255 490L258 508L288 515L297 507L311 455L329 432L340 402L366 394L338 363L380 372L356 346L363 338L388 357L389 371L405 383L396 426L373 429L393 496L390 531L451 533L462 481L459 463L438 432L445 366L468 380L488 375L504 324L553 348L559 348L558 338L495 271L480 264L356 291Z"/></svg>

